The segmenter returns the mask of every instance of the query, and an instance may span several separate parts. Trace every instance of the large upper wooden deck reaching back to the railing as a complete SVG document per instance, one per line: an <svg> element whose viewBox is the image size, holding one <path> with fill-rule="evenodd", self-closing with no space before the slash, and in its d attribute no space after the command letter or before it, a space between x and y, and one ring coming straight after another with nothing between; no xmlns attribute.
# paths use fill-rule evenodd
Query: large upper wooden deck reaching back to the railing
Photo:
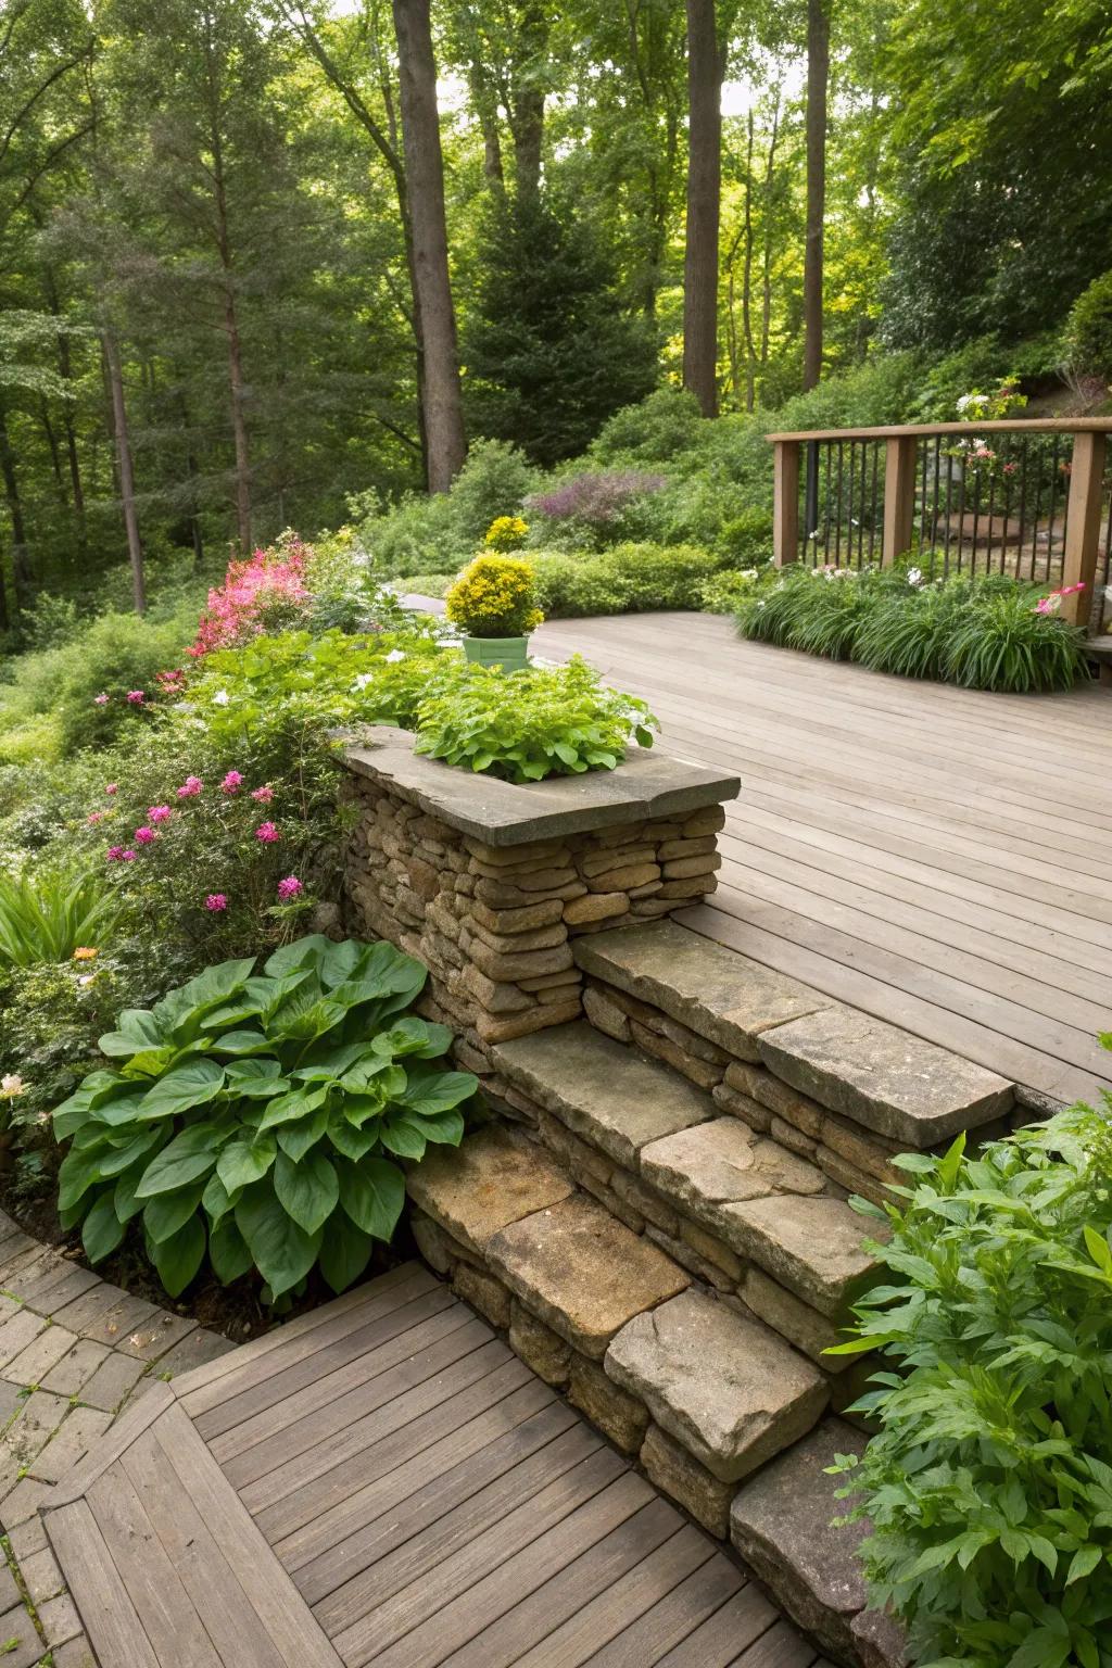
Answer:
<svg viewBox="0 0 1112 1668"><path fill-rule="evenodd" d="M545 626L742 777L689 926L1055 1099L1112 1088L1112 691L990 696L740 642Z"/></svg>

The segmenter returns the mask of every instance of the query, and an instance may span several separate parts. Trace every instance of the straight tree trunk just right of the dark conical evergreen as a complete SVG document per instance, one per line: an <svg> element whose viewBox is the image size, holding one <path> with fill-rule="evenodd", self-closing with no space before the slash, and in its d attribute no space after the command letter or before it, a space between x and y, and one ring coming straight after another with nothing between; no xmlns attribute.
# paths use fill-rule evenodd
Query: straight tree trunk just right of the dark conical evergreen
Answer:
<svg viewBox="0 0 1112 1668"><path fill-rule="evenodd" d="M719 410L719 205L722 195L722 52L714 0L687 0L687 249L684 387L704 417Z"/></svg>

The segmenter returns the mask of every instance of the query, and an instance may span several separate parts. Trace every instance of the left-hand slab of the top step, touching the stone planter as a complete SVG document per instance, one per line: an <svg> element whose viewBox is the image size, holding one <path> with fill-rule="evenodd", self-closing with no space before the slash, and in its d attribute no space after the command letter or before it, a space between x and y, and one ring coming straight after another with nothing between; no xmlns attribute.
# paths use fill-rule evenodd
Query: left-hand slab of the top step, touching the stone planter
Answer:
<svg viewBox="0 0 1112 1668"><path fill-rule="evenodd" d="M769 1027L830 1006L829 996L674 921L577 939L575 961L739 1059L760 1058L757 1037Z"/></svg>

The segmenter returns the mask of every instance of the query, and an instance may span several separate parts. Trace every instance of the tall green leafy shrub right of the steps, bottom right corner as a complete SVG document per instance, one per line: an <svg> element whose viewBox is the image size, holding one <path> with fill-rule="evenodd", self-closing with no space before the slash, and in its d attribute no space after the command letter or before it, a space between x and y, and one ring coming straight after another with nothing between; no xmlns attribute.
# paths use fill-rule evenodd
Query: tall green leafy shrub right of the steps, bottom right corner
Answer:
<svg viewBox="0 0 1112 1668"><path fill-rule="evenodd" d="M1112 1039L1109 1039L1112 1041ZM897 1159L889 1279L840 1353L879 1348L847 1456L870 1600L942 1668L1105 1668L1112 1613L1112 1098L974 1156Z"/></svg>

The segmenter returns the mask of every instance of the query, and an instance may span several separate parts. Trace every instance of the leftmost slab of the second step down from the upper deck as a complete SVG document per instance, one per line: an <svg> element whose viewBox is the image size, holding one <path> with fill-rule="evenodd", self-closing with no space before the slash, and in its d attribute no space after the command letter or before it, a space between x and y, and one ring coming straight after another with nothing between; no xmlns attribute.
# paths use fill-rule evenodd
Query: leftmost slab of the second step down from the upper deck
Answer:
<svg viewBox="0 0 1112 1668"><path fill-rule="evenodd" d="M694 1084L587 1021L503 1042L495 1058L530 1099L627 1169L637 1169L637 1154L650 1141L702 1124L717 1111Z"/></svg>

